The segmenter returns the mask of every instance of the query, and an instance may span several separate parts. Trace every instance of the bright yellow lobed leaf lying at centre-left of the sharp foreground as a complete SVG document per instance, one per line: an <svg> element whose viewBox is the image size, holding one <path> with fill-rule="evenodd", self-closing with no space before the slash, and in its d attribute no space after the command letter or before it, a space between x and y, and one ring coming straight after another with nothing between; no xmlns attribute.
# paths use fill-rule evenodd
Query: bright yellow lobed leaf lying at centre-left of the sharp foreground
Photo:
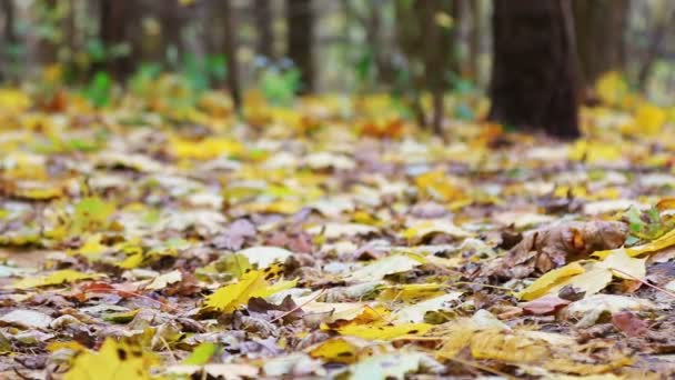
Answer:
<svg viewBox="0 0 675 380"><path fill-rule="evenodd" d="M232 312L246 304L253 297L269 297L282 290L291 289L298 283L293 281L279 281L272 286L265 280L263 271L252 270L233 284L218 289L206 297L204 308L216 311Z"/></svg>

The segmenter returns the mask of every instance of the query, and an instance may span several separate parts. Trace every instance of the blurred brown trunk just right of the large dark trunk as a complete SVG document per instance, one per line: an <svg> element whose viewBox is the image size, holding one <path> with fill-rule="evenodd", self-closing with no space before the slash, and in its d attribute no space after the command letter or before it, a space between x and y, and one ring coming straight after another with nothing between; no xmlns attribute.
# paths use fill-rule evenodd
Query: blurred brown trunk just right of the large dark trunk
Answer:
<svg viewBox="0 0 675 380"><path fill-rule="evenodd" d="M583 83L592 87L605 72L623 70L628 0L573 0Z"/></svg>

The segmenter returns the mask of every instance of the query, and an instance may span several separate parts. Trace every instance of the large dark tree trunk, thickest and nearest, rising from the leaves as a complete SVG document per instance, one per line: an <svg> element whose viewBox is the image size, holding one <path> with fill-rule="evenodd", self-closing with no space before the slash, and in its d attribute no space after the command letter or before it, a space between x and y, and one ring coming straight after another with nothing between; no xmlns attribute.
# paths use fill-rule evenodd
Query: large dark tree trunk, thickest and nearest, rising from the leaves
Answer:
<svg viewBox="0 0 675 380"><path fill-rule="evenodd" d="M558 138L578 130L578 64L568 0L494 0L490 118Z"/></svg>

